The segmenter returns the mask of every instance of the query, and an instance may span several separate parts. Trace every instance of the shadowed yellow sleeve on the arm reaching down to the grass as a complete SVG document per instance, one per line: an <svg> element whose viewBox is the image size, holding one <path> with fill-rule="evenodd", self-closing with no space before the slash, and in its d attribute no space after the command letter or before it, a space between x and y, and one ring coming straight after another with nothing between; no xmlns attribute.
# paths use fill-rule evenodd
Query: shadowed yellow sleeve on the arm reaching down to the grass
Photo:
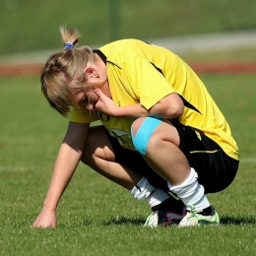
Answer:
<svg viewBox="0 0 256 256"><path fill-rule="evenodd" d="M72 107L69 116L69 120L75 123L91 123L97 119L96 113L86 108Z"/></svg>

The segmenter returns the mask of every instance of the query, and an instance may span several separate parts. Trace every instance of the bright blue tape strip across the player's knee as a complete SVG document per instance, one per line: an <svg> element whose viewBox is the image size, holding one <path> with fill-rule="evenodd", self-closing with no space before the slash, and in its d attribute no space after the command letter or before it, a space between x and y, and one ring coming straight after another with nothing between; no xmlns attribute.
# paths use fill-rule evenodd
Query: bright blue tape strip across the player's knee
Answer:
<svg viewBox="0 0 256 256"><path fill-rule="evenodd" d="M141 155L146 155L149 140L160 123L160 119L146 117L141 127L137 131L136 136L134 136L133 131L131 131L133 145Z"/></svg>

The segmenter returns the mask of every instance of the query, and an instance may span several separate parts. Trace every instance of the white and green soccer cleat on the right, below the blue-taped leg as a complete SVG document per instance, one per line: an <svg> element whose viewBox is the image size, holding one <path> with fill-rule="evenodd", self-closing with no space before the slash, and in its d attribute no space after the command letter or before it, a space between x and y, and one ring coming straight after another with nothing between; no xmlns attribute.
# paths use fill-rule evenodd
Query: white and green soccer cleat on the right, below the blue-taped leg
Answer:
<svg viewBox="0 0 256 256"><path fill-rule="evenodd" d="M200 212L194 211L195 207L191 206L191 211L187 212L186 216L178 224L183 226L197 226L201 224L220 224L220 218L214 207L212 207L212 214L209 216L201 215Z"/></svg>

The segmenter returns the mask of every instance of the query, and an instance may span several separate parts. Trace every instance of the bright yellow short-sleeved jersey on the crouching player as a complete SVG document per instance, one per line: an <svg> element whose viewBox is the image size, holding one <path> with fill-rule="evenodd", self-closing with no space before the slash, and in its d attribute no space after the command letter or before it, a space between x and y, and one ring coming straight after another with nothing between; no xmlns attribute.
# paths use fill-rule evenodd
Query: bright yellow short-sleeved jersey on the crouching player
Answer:
<svg viewBox="0 0 256 256"><path fill-rule="evenodd" d="M96 53L106 63L108 84L118 106L141 103L150 109L162 97L176 93L184 102L179 122L203 131L231 158L238 149L224 115L193 70L171 51L150 43L123 39L100 47ZM100 120L122 147L133 150L131 124L135 118L114 118L99 111L73 108L70 120Z"/></svg>

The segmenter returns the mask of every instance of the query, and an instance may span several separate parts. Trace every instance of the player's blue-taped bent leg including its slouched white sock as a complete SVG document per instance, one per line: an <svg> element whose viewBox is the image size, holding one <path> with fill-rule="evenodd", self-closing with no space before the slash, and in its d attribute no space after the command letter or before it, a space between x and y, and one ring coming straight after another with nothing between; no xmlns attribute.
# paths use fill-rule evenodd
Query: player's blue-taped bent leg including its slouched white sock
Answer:
<svg viewBox="0 0 256 256"><path fill-rule="evenodd" d="M144 143L142 138L147 134L147 129L151 127L151 122L154 121L154 118L149 117L147 123L144 124L145 119L139 118L133 123L132 129L136 145ZM148 125L147 128L144 125ZM140 129L142 130L136 139ZM144 129L146 133L143 133ZM145 136L148 138L147 135ZM168 182L170 191L183 201L188 210L191 206L197 211L205 210L210 207L210 202L204 194L205 189L198 183L198 174L190 167L188 160L178 147L179 143L176 128L169 121L160 122L152 131L147 145L143 145L146 147L144 158ZM142 151L142 154L144 153Z"/></svg>

